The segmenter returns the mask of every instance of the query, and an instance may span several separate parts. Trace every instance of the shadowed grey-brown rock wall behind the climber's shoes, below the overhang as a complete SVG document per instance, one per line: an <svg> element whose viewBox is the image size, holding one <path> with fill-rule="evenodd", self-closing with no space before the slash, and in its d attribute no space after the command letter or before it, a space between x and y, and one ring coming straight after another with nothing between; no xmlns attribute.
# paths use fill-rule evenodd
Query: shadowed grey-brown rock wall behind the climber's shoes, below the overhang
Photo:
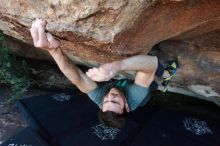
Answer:
<svg viewBox="0 0 220 146"><path fill-rule="evenodd" d="M176 58L179 62L173 87L185 88L220 105L220 30L183 40L164 41L157 49L156 54L161 60Z"/></svg>

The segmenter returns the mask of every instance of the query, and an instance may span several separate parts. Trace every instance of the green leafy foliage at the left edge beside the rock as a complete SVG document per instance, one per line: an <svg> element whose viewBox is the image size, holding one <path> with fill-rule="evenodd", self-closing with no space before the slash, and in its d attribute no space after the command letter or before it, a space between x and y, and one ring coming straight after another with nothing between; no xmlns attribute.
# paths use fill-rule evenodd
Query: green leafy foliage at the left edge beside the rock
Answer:
<svg viewBox="0 0 220 146"><path fill-rule="evenodd" d="M28 74L28 65L17 57L4 45L5 37L0 33L0 83L11 86L14 95L6 102L11 103L24 96L31 79Z"/></svg>

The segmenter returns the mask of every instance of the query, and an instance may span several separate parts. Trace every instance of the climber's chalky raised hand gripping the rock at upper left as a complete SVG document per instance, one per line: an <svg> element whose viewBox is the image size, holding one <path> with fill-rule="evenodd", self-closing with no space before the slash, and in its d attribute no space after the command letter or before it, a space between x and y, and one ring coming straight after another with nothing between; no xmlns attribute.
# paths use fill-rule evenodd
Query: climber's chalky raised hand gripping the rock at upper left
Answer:
<svg viewBox="0 0 220 146"><path fill-rule="evenodd" d="M35 47L43 48L47 51L52 51L60 47L60 41L55 39L51 33L45 32L46 25L47 22L45 20L36 19L32 23L30 32Z"/></svg>

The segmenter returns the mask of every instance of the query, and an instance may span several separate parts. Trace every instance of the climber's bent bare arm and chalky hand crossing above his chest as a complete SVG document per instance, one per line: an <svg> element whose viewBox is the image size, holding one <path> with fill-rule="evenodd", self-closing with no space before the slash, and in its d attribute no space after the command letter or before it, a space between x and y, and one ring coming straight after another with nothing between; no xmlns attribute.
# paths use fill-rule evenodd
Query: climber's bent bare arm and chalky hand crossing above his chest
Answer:
<svg viewBox="0 0 220 146"><path fill-rule="evenodd" d="M121 61L105 63L99 68L92 68L87 72L87 75L93 81L108 81L120 71L137 71L135 82L140 83L140 80L146 78L154 78L154 73L158 66L157 57L148 55L137 55L129 57ZM140 85L148 86L149 81L144 81Z"/></svg>

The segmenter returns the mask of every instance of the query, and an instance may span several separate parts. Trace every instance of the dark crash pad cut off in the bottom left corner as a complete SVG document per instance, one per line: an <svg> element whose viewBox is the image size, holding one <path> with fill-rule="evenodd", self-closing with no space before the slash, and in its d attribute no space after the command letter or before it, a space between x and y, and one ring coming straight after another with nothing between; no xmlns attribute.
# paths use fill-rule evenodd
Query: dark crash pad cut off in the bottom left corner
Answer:
<svg viewBox="0 0 220 146"><path fill-rule="evenodd" d="M6 140L1 146L49 146L31 128L25 128Z"/></svg>

